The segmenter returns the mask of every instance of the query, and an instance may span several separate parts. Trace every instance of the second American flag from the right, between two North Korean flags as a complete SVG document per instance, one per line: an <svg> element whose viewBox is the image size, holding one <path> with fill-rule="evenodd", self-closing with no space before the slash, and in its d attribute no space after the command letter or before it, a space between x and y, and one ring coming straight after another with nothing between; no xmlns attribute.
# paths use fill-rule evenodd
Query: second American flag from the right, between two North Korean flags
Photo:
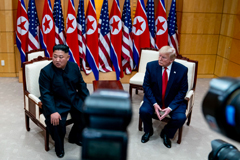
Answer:
<svg viewBox="0 0 240 160"><path fill-rule="evenodd" d="M155 21L154 21L154 0L148 0L147 6L147 19L148 19L148 27L150 32L150 43L151 47L155 47Z"/></svg>

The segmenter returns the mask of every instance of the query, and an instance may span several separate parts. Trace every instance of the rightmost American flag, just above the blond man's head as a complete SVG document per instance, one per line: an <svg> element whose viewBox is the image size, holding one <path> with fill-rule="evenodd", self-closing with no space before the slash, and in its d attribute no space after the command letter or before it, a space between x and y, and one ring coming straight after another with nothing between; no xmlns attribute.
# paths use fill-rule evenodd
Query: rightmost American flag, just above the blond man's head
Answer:
<svg viewBox="0 0 240 160"><path fill-rule="evenodd" d="M176 54L179 55L176 0L172 0L168 15L168 43L171 47L175 48Z"/></svg>

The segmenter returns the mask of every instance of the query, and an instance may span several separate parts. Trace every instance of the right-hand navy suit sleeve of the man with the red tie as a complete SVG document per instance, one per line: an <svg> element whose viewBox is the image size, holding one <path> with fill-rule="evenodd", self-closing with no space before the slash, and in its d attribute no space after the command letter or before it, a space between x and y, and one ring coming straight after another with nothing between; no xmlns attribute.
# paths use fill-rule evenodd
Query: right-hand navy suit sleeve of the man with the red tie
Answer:
<svg viewBox="0 0 240 160"><path fill-rule="evenodd" d="M184 70L183 76L182 76L181 81L180 81L179 91L169 105L169 107L172 110L175 110L179 105L181 105L182 102L184 101L184 97L186 96L186 93L187 93L187 90L188 90L187 72L188 72L188 69L186 68Z"/></svg>

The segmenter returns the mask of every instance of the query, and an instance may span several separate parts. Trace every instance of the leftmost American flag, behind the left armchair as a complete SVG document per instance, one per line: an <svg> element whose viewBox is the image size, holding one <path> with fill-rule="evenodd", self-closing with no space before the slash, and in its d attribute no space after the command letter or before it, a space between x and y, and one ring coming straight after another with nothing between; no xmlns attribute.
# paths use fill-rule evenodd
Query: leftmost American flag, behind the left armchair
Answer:
<svg viewBox="0 0 240 160"><path fill-rule="evenodd" d="M29 19L29 32L28 32L28 51L39 49L39 20L35 0L30 0L28 3L28 19Z"/></svg>

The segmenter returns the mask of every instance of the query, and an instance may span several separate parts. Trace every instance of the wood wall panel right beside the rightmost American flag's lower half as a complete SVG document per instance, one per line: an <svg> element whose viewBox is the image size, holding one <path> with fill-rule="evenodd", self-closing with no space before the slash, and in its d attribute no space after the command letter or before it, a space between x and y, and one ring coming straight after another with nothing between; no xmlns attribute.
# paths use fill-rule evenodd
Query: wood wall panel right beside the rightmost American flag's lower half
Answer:
<svg viewBox="0 0 240 160"><path fill-rule="evenodd" d="M218 35L181 34L181 54L216 54Z"/></svg>

